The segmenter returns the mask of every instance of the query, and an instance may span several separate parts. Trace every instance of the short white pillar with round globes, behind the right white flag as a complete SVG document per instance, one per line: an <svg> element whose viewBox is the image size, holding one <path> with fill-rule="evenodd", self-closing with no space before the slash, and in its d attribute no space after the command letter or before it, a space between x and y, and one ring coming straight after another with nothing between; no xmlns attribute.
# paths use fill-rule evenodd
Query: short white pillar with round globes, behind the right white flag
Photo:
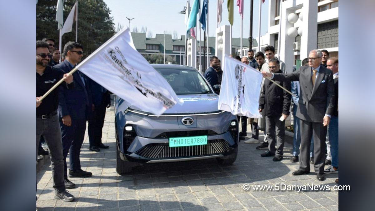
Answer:
<svg viewBox="0 0 375 211"><path fill-rule="evenodd" d="M221 41L217 39L219 36L222 38ZM221 60L221 66L223 66L224 55L229 56L231 53L231 27L228 25L220 26L216 29L215 37L215 56ZM219 49L219 45L222 45L222 49Z"/></svg>

